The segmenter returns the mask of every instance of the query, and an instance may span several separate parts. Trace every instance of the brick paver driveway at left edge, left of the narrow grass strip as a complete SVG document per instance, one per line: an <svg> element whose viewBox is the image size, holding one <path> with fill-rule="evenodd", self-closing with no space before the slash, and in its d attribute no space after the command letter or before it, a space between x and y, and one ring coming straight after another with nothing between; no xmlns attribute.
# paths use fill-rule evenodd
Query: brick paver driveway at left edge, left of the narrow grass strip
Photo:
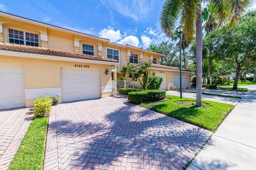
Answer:
<svg viewBox="0 0 256 170"><path fill-rule="evenodd" d="M25 137L34 113L30 108L0 111L0 169L8 169Z"/></svg>

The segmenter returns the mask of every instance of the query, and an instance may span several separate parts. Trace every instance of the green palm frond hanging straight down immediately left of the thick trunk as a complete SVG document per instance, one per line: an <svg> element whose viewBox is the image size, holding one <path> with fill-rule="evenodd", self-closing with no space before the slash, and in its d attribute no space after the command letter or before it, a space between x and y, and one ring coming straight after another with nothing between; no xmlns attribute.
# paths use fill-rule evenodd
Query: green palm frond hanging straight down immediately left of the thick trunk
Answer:
<svg viewBox="0 0 256 170"><path fill-rule="evenodd" d="M181 25L188 44L193 41L196 32L197 12L198 0L184 0L181 11Z"/></svg>

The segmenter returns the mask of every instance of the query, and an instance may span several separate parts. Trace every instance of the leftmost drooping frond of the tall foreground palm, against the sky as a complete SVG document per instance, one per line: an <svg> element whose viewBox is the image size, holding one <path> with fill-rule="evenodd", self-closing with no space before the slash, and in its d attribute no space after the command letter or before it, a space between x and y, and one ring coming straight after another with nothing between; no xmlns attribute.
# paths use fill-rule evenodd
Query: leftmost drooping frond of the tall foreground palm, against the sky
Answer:
<svg viewBox="0 0 256 170"><path fill-rule="evenodd" d="M167 37L171 37L175 30L175 24L180 14L181 4L182 0L167 0L162 7L160 22L161 28Z"/></svg>

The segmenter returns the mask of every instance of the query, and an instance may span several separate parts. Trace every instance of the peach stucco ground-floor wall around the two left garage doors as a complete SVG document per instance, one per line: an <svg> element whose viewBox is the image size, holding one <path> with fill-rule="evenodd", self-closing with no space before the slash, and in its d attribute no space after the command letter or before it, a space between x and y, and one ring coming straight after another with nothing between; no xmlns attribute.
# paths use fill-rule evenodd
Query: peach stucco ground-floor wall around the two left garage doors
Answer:
<svg viewBox="0 0 256 170"><path fill-rule="evenodd" d="M79 62L65 62L54 60L42 60L35 58L21 58L0 55L0 66L22 66L24 69L25 89L61 88L61 68L71 68L74 64L90 65L90 69L99 70L100 96L102 98L111 96L111 92L102 93L101 86L111 85L111 73L105 74L106 69L111 70L111 65L91 64ZM87 70L86 68L78 68ZM61 98L59 100L61 102ZM34 99L26 100L26 107L34 105Z"/></svg>

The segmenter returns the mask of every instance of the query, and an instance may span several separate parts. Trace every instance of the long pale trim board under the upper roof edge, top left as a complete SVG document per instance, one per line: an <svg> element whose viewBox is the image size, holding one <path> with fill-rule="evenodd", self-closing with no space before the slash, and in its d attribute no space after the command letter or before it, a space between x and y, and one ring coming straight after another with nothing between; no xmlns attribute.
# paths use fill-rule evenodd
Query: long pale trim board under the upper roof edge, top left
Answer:
<svg viewBox="0 0 256 170"><path fill-rule="evenodd" d="M3 12L0 12L0 16L5 16L7 18L16 19L16 20L19 20L19 21L23 21L23 22L27 22L27 23L32 23L32 24L36 24L36 25L41 25L41 26L46 27L46 28L52 28L52 29L55 29L55 30L61 30L63 32L74 33L75 35L90 37L90 38L98 39L98 40L105 41L105 42L109 42L110 41L109 39L88 35L86 33L77 32L77 31L74 31L74 30L68 30L68 29L65 29L65 28L60 28L60 27L57 27L57 26L54 26L54 25L50 25L50 24L46 24L46 23L41 23L41 22L38 22L38 21L32 21L30 19L25 19L25 18L22 18L20 16L14 16L14 15L6 14L6 13L3 13Z"/></svg>

